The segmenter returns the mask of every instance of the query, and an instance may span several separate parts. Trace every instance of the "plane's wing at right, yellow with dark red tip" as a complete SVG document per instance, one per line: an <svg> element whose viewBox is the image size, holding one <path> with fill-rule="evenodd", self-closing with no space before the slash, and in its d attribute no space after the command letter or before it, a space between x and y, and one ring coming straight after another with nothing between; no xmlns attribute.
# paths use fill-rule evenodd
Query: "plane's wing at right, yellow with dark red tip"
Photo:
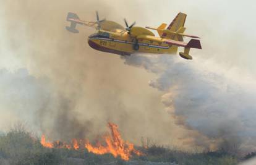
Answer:
<svg viewBox="0 0 256 165"><path fill-rule="evenodd" d="M150 35L139 35L139 36L137 36L137 40L148 40L148 41L155 41L158 43L166 43L166 44L181 46L181 47L185 47L185 48L202 49L200 40L195 40L195 39L191 39L189 41L189 43L185 43L182 41L176 41L176 40L171 40L171 39L166 39L166 38L159 38L159 37L150 36Z"/></svg>

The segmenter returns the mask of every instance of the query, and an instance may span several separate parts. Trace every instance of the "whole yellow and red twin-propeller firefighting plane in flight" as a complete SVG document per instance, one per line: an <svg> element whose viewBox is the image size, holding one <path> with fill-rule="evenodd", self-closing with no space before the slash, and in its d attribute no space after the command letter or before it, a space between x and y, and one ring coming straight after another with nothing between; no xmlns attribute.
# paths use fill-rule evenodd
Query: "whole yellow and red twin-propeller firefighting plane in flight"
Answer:
<svg viewBox="0 0 256 165"><path fill-rule="evenodd" d="M202 47L200 40L191 39L189 43L183 41L184 36L199 38L184 34L186 17L186 14L180 12L167 28L166 23L162 23L158 28L134 27L135 22L129 26L124 19L126 23L124 28L116 22L100 20L98 12L95 22L80 20L77 14L69 12L67 21L70 22L70 26L66 28L72 33L79 33L75 28L77 24L96 28L97 32L88 37L88 44L98 51L122 56L133 53L176 54L177 48L181 46L184 47L184 52L180 52L179 55L184 59L192 59L189 55L190 48L202 49ZM155 36L148 29L156 30L160 36Z"/></svg>

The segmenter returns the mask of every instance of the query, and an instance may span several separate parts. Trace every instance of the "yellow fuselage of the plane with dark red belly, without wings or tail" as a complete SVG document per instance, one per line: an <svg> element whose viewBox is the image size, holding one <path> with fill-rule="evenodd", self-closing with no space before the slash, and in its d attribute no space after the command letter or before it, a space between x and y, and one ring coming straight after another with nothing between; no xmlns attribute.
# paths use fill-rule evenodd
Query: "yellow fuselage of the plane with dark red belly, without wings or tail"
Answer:
<svg viewBox="0 0 256 165"><path fill-rule="evenodd" d="M155 41L137 41L130 35L113 36L109 33L95 33L88 37L88 44L93 49L119 55L133 53L176 54L177 46L159 44ZM135 46L136 45L136 46Z"/></svg>

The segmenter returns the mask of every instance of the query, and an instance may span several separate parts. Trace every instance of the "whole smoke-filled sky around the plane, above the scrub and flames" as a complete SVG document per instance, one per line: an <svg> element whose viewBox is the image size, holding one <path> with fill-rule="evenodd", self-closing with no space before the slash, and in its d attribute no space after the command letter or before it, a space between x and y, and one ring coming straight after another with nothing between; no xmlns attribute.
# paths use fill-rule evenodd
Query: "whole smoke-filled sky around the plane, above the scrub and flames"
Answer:
<svg viewBox="0 0 256 165"><path fill-rule="evenodd" d="M111 121L137 144L214 149L237 138L255 148L254 1L2 0L0 9L0 129L21 121L50 138L93 138ZM87 44L93 29L65 29L67 12L95 20L96 10L155 27L184 12L203 49L193 61L100 53Z"/></svg>

